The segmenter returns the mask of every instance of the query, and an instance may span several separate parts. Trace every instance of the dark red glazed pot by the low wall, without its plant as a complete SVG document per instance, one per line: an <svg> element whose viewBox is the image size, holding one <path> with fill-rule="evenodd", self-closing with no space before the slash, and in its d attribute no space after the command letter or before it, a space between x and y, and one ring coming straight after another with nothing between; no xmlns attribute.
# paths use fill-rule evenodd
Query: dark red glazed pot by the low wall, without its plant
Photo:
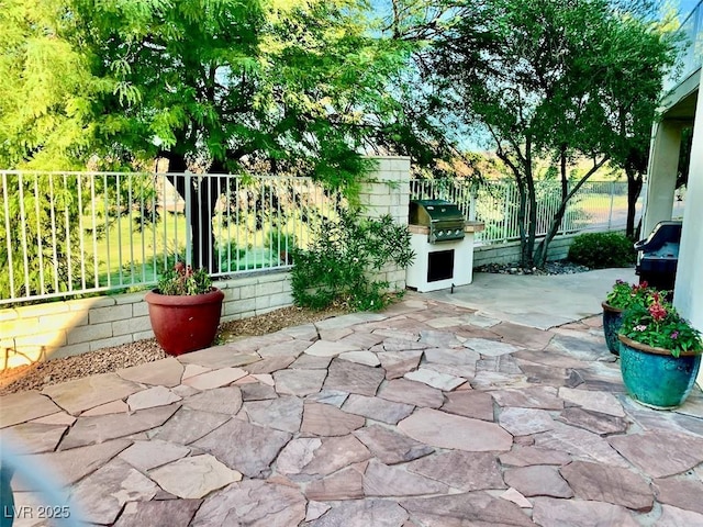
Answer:
<svg viewBox="0 0 703 527"><path fill-rule="evenodd" d="M156 340L169 355L207 348L220 325L224 293L216 288L203 294L170 295L149 291L144 300Z"/></svg>

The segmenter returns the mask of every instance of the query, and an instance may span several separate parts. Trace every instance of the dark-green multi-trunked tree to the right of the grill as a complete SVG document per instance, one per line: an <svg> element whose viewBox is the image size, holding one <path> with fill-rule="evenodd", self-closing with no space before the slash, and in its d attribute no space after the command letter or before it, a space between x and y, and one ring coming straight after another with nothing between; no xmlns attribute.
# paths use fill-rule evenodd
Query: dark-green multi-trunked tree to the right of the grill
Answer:
<svg viewBox="0 0 703 527"><path fill-rule="evenodd" d="M491 0L457 8L464 15L451 21L434 68L454 112L486 126L514 177L521 262L542 266L571 197L637 132L632 123L645 120L634 113L639 86L661 86L672 46L652 23L605 0ZM652 48L654 57L647 55ZM557 167L561 199L537 244L538 157ZM573 178L580 158L591 165Z"/></svg>

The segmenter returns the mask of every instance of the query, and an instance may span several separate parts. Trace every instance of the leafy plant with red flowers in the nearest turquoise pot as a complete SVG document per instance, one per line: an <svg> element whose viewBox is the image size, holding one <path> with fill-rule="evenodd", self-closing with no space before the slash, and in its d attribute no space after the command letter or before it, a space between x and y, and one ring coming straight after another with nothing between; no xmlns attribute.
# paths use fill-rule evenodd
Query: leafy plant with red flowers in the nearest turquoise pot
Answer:
<svg viewBox="0 0 703 527"><path fill-rule="evenodd" d="M687 351L703 352L701 333L658 292L623 313L620 334L647 346L668 349L674 357Z"/></svg>

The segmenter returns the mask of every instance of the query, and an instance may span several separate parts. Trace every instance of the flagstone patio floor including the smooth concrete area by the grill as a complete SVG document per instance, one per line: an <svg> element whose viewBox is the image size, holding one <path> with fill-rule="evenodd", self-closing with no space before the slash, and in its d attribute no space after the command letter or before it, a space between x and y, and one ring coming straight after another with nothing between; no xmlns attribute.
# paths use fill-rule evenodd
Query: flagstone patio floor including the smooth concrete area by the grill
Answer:
<svg viewBox="0 0 703 527"><path fill-rule="evenodd" d="M703 397L623 391L600 301L631 270L477 274L350 314L0 399L16 526L703 525ZM27 517L32 516L32 517Z"/></svg>

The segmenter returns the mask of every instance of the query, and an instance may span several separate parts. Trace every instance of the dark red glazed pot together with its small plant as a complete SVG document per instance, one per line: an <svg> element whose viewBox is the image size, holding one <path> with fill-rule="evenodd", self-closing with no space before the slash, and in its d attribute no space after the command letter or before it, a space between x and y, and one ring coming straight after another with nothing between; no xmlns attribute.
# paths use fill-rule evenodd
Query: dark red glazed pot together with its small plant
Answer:
<svg viewBox="0 0 703 527"><path fill-rule="evenodd" d="M223 299L224 293L212 287L204 269L176 262L144 298L164 351L181 355L210 346L220 325Z"/></svg>

